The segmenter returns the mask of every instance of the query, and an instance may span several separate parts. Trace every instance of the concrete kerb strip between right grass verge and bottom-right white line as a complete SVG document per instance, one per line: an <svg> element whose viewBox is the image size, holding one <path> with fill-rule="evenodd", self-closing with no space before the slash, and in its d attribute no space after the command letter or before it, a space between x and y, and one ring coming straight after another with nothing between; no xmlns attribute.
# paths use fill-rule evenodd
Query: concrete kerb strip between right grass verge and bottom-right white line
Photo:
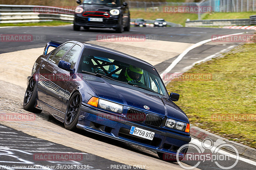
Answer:
<svg viewBox="0 0 256 170"><path fill-rule="evenodd" d="M235 148L239 152L239 155L242 155L242 156L245 156L245 157L252 158L252 159L256 160L256 149L251 148L249 146L246 146L244 144L239 144L235 141L230 141L227 138L220 137L220 136L215 135L211 132L208 132L204 129L198 128L198 127L196 127L192 124L190 126L190 134L191 134L192 137L195 137L195 138L201 139L201 140L204 140L205 138L210 138L213 141L216 141L217 139L221 139L221 140L225 141L226 143L235 146ZM225 148L225 149L227 149L230 152L234 152L233 150L230 150L228 148Z"/></svg>

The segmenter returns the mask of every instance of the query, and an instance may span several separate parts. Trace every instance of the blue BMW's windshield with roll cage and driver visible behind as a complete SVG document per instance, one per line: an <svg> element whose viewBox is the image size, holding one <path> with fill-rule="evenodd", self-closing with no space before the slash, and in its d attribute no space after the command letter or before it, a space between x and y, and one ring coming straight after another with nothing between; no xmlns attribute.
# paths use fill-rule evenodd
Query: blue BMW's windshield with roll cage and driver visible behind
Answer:
<svg viewBox="0 0 256 170"><path fill-rule="evenodd" d="M150 67L150 69L153 68ZM110 79L168 96L159 75L153 74L150 70L133 66L129 62L123 63L101 56L83 55L79 63L78 72L101 74L105 77L108 76Z"/></svg>

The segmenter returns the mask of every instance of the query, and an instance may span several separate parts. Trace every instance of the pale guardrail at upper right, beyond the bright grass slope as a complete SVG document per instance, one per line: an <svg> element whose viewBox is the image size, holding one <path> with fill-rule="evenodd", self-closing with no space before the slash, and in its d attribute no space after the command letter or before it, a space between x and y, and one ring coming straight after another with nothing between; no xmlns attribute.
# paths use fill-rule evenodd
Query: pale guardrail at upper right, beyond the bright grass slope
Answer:
<svg viewBox="0 0 256 170"><path fill-rule="evenodd" d="M248 26L250 19L201 19L186 21L185 26Z"/></svg>

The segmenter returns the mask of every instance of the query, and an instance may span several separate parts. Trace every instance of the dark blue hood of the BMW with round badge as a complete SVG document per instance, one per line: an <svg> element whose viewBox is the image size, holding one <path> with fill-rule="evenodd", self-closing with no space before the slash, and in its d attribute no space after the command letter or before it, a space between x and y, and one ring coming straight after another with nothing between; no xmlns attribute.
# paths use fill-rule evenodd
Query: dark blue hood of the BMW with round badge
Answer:
<svg viewBox="0 0 256 170"><path fill-rule="evenodd" d="M145 112L167 116L168 118L182 122L189 122L187 115L180 107L169 101L169 98L158 93L105 78L89 75L82 77L92 86L101 99L113 101ZM148 106L149 109L145 109L144 106Z"/></svg>

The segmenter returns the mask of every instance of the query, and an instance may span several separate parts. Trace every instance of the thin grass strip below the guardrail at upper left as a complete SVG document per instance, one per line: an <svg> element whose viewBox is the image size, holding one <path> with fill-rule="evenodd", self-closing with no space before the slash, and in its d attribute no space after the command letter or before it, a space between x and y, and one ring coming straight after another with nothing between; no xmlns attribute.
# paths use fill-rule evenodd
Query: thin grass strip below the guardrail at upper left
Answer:
<svg viewBox="0 0 256 170"><path fill-rule="evenodd" d="M62 21L28 22L28 23L1 23L0 26L62 26L71 24Z"/></svg>

